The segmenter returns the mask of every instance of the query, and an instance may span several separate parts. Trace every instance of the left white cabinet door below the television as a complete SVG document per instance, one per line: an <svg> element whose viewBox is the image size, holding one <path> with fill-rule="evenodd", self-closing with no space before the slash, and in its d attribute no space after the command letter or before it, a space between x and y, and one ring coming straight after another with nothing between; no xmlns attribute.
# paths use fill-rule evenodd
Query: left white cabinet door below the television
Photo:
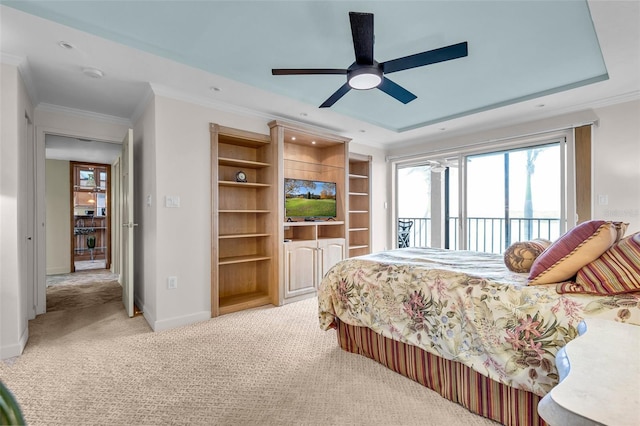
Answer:
<svg viewBox="0 0 640 426"><path fill-rule="evenodd" d="M284 246L284 298L315 292L318 285L316 241L290 242Z"/></svg>

